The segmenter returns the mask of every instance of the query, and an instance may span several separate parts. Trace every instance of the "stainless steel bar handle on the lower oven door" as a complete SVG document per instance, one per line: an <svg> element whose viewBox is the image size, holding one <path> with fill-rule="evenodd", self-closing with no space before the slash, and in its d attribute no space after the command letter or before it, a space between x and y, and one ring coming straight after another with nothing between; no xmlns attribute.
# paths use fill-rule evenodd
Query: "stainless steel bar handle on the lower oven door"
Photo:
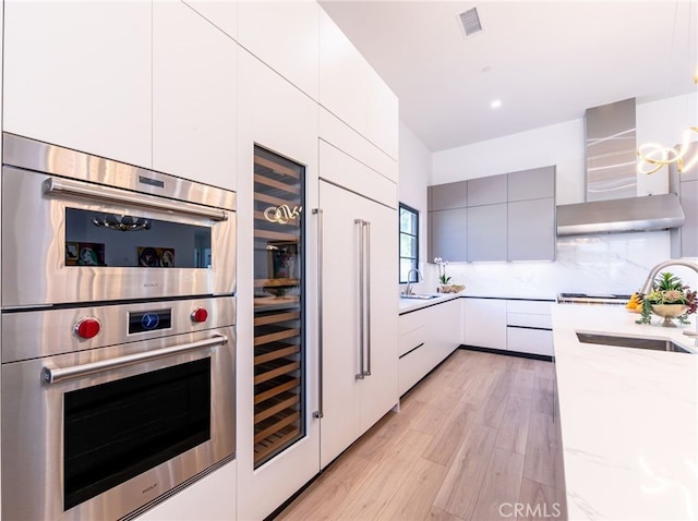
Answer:
<svg viewBox="0 0 698 521"><path fill-rule="evenodd" d="M156 349L155 351L144 351L142 353L128 354L125 356L103 360L99 362L92 362L88 364L74 365L72 367L44 367L41 369L41 378L47 384L58 384L59 381L81 378L83 376L92 375L95 373L103 373L105 371L111 371L129 365L149 362L152 360L163 359L165 356L185 353L188 351L197 351L200 349L225 346L226 343L228 343L228 337L226 337L225 335L216 335L213 338L207 338L206 340L200 340L197 342L181 343L171 348Z"/></svg>

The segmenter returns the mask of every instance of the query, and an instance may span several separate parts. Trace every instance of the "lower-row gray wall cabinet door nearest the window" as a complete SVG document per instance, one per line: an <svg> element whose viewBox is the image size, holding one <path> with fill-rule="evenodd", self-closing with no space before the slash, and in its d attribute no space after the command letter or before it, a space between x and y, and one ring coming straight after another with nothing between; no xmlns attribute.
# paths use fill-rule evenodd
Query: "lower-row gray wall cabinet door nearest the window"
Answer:
<svg viewBox="0 0 698 521"><path fill-rule="evenodd" d="M467 222L467 208L430 211L429 259L468 260Z"/></svg>

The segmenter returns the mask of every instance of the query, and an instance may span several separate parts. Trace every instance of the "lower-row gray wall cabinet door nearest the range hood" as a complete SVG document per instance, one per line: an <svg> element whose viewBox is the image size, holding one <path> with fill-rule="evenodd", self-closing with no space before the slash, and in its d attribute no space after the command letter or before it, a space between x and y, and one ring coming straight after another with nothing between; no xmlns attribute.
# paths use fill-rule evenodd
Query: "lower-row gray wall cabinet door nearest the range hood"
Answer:
<svg viewBox="0 0 698 521"><path fill-rule="evenodd" d="M507 259L555 258L555 199L517 201L507 207Z"/></svg>

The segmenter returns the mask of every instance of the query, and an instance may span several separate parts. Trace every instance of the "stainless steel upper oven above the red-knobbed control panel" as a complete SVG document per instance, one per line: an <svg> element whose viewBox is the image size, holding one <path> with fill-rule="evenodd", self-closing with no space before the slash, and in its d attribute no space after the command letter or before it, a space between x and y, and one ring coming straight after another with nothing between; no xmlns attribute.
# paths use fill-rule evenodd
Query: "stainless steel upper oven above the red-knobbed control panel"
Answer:
<svg viewBox="0 0 698 521"><path fill-rule="evenodd" d="M2 307L234 293L236 194L3 134Z"/></svg>

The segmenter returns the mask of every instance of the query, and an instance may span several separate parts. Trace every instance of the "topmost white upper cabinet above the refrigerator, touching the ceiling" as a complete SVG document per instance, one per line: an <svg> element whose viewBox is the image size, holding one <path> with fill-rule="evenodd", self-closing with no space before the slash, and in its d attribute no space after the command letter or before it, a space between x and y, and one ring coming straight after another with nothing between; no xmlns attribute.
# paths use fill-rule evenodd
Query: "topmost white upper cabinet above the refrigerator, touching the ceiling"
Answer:
<svg viewBox="0 0 698 521"><path fill-rule="evenodd" d="M339 29L320 10L320 104L398 158L398 99Z"/></svg>

